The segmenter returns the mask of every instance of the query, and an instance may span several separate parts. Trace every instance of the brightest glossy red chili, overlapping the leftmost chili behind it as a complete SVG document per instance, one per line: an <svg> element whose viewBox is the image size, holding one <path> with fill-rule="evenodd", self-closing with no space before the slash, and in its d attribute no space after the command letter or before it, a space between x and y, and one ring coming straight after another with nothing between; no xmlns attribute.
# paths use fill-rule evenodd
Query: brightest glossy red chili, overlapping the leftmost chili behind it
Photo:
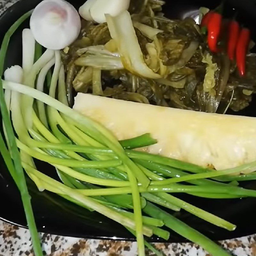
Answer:
<svg viewBox="0 0 256 256"><path fill-rule="evenodd" d="M217 43L220 36L222 15L213 12L208 23L208 45L212 52L218 52Z"/></svg>

